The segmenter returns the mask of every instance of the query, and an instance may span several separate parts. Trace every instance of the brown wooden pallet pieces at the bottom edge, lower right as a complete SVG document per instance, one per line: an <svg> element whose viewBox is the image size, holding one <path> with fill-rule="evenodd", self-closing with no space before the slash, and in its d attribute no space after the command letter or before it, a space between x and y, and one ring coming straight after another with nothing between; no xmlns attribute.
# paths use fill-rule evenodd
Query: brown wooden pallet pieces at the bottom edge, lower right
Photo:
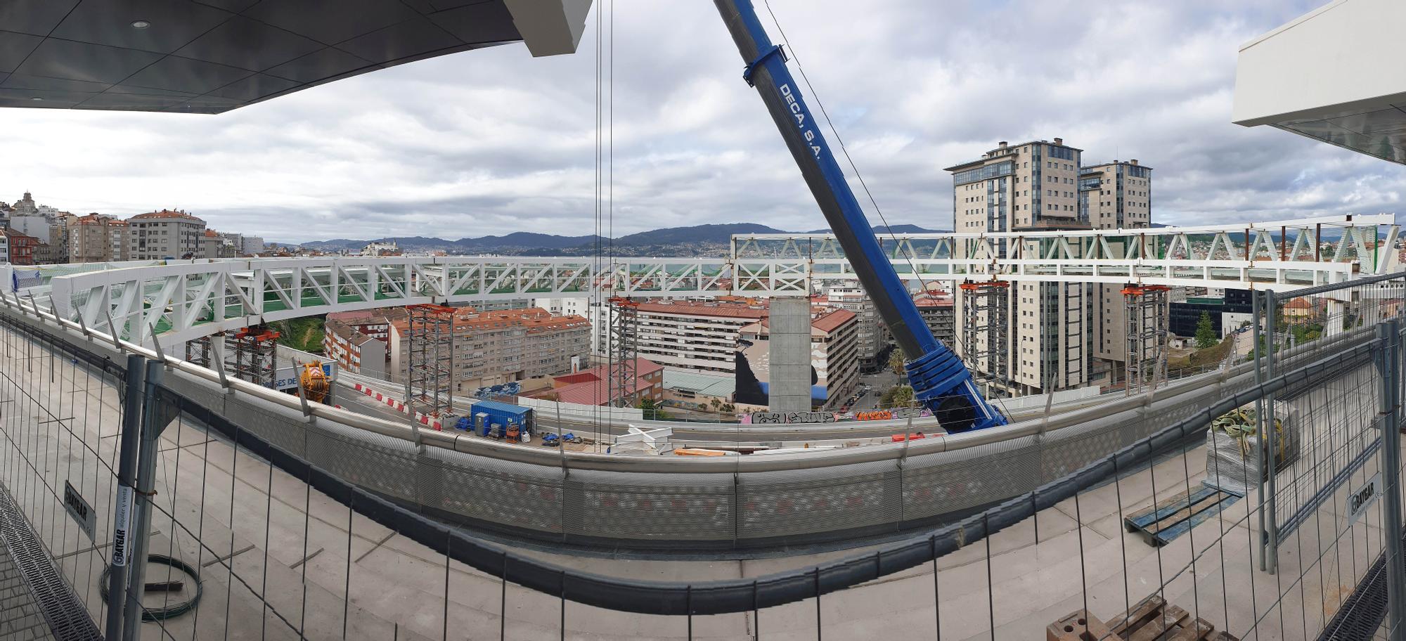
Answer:
<svg viewBox="0 0 1406 641"><path fill-rule="evenodd" d="M1104 623L1098 617L1074 610L1045 627L1045 641L1240 641L1225 630L1216 631L1205 619L1195 619L1187 610L1167 604L1159 596L1149 596L1132 611Z"/></svg>

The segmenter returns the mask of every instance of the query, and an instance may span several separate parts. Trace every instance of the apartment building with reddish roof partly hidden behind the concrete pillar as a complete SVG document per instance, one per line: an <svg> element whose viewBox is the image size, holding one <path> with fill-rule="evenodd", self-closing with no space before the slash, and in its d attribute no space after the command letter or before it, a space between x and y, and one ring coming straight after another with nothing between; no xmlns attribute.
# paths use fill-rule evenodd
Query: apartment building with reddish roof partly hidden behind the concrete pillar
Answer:
<svg viewBox="0 0 1406 641"><path fill-rule="evenodd" d="M769 381L770 326L768 319L744 326L738 337L751 343L744 351L752 374ZM859 387L859 316L839 308L813 306L810 312L810 364L815 382L811 405L842 403Z"/></svg>

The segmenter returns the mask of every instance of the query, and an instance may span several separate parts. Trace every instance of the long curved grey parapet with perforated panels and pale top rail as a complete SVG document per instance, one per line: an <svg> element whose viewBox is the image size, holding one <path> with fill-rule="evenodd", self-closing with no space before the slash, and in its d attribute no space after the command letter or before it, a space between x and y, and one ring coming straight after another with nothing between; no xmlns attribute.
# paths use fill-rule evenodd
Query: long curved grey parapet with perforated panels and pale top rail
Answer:
<svg viewBox="0 0 1406 641"><path fill-rule="evenodd" d="M107 357L148 347L27 301L0 313ZM1313 353L1371 340L1346 332ZM506 446L315 405L165 356L166 387L267 441L443 520L543 543L744 550L849 541L1029 492L1253 384L1247 365L1040 420L945 439L772 457L576 454ZM1289 358L1282 361L1285 367Z"/></svg>

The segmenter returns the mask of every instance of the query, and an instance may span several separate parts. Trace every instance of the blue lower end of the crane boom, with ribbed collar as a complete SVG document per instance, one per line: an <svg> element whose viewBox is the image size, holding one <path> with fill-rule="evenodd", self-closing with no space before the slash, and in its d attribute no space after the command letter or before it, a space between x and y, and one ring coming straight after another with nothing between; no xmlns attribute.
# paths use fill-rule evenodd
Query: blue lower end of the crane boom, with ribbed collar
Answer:
<svg viewBox="0 0 1406 641"><path fill-rule="evenodd" d="M967 371L952 350L929 351L905 364L912 396L932 410L949 433L1005 425L1005 416L981 398Z"/></svg>

